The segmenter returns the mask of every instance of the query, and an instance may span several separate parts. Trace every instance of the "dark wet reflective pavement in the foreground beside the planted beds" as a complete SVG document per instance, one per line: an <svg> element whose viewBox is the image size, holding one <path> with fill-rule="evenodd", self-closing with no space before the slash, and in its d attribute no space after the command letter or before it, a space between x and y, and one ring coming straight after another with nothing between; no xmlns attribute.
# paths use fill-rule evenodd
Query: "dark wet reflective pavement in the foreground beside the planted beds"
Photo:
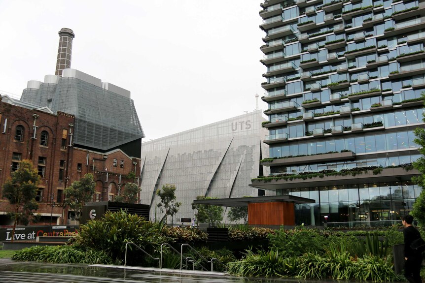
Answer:
<svg viewBox="0 0 425 283"><path fill-rule="evenodd" d="M307 283L293 279L241 278L234 276L183 275L118 269L86 264L50 264L0 259L1 283ZM315 281L316 283L318 281ZM324 282L324 281L321 281ZM335 282L335 281L332 281Z"/></svg>

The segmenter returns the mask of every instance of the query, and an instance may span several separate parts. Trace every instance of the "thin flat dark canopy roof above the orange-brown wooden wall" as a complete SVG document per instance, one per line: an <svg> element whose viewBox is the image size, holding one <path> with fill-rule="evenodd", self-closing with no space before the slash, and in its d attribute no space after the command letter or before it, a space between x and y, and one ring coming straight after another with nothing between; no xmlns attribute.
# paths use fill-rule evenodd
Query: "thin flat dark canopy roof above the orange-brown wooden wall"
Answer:
<svg viewBox="0 0 425 283"><path fill-rule="evenodd" d="M193 201L193 203L195 204L209 204L218 206L248 206L248 203L253 202L316 203L316 200L293 195L272 195L236 198L196 199Z"/></svg>

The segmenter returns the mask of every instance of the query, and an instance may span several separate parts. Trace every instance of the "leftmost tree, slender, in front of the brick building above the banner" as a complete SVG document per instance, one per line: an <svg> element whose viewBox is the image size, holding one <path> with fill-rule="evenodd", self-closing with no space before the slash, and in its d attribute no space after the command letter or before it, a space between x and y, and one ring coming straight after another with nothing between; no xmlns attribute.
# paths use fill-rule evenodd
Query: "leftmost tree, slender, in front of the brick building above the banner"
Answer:
<svg viewBox="0 0 425 283"><path fill-rule="evenodd" d="M38 208L35 202L37 186L40 181L37 170L33 167L31 160L24 159L19 163L19 168L13 171L3 184L3 197L7 198L13 206L14 217L12 229L12 241L18 222L28 225L30 215Z"/></svg>

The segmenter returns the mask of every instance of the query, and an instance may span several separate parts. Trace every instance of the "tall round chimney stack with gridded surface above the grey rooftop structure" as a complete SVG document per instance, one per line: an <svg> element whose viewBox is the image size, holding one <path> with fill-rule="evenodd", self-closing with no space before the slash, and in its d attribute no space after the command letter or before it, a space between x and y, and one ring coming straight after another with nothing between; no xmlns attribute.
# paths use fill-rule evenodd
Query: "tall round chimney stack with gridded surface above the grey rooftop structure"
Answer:
<svg viewBox="0 0 425 283"><path fill-rule="evenodd" d="M71 29L63 28L59 31L58 60L56 61L55 75L62 76L62 71L71 68L72 39L75 37Z"/></svg>

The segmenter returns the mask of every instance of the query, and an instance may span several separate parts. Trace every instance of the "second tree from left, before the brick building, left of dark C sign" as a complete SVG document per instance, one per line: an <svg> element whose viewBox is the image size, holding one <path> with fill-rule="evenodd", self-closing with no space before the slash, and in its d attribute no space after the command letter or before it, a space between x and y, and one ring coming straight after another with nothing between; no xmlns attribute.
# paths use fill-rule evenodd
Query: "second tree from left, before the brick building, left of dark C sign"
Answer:
<svg viewBox="0 0 425 283"><path fill-rule="evenodd" d="M64 190L65 205L76 211L81 211L86 202L93 198L95 193L95 182L93 175L88 173L80 180L72 182L71 186Z"/></svg>

